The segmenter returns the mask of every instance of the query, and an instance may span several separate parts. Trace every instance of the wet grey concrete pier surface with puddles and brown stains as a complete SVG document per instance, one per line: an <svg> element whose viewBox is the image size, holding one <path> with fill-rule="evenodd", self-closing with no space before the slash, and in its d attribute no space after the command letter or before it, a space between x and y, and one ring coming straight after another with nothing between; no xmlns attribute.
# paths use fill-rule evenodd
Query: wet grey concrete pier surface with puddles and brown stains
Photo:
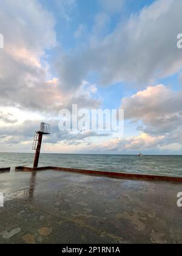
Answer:
<svg viewBox="0 0 182 256"><path fill-rule="evenodd" d="M0 174L0 243L182 243L182 184L52 170Z"/></svg>

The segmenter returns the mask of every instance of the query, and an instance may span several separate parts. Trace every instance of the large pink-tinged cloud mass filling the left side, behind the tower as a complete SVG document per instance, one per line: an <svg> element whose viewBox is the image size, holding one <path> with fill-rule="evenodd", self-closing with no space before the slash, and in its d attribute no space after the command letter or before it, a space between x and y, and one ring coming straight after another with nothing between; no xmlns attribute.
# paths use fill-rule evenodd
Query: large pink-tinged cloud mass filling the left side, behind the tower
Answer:
<svg viewBox="0 0 182 256"><path fill-rule="evenodd" d="M5 37L5 47L0 52L0 150L5 145L11 145L13 150L13 145L19 143L16 150L29 151L41 121L50 121L56 127L52 143L56 143L55 139L80 141L81 136L59 134L58 111L72 104L97 107L101 99L96 96L96 85L84 82L69 93L61 90L57 77L52 77L46 54L57 44L52 14L37 0L27 4L23 0L2 0L0 32ZM96 134L84 138L92 135Z"/></svg>

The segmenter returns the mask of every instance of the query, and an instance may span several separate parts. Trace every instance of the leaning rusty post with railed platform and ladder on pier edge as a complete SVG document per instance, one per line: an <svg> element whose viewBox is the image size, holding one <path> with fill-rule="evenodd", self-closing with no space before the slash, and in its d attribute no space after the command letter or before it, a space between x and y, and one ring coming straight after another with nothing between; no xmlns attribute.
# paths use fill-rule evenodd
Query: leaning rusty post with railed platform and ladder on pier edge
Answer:
<svg viewBox="0 0 182 256"><path fill-rule="evenodd" d="M33 168L38 167L39 155L41 152L42 137L43 135L49 135L49 134L50 134L50 124L41 123L40 129L35 132L35 137L33 139L32 150L36 151Z"/></svg>

